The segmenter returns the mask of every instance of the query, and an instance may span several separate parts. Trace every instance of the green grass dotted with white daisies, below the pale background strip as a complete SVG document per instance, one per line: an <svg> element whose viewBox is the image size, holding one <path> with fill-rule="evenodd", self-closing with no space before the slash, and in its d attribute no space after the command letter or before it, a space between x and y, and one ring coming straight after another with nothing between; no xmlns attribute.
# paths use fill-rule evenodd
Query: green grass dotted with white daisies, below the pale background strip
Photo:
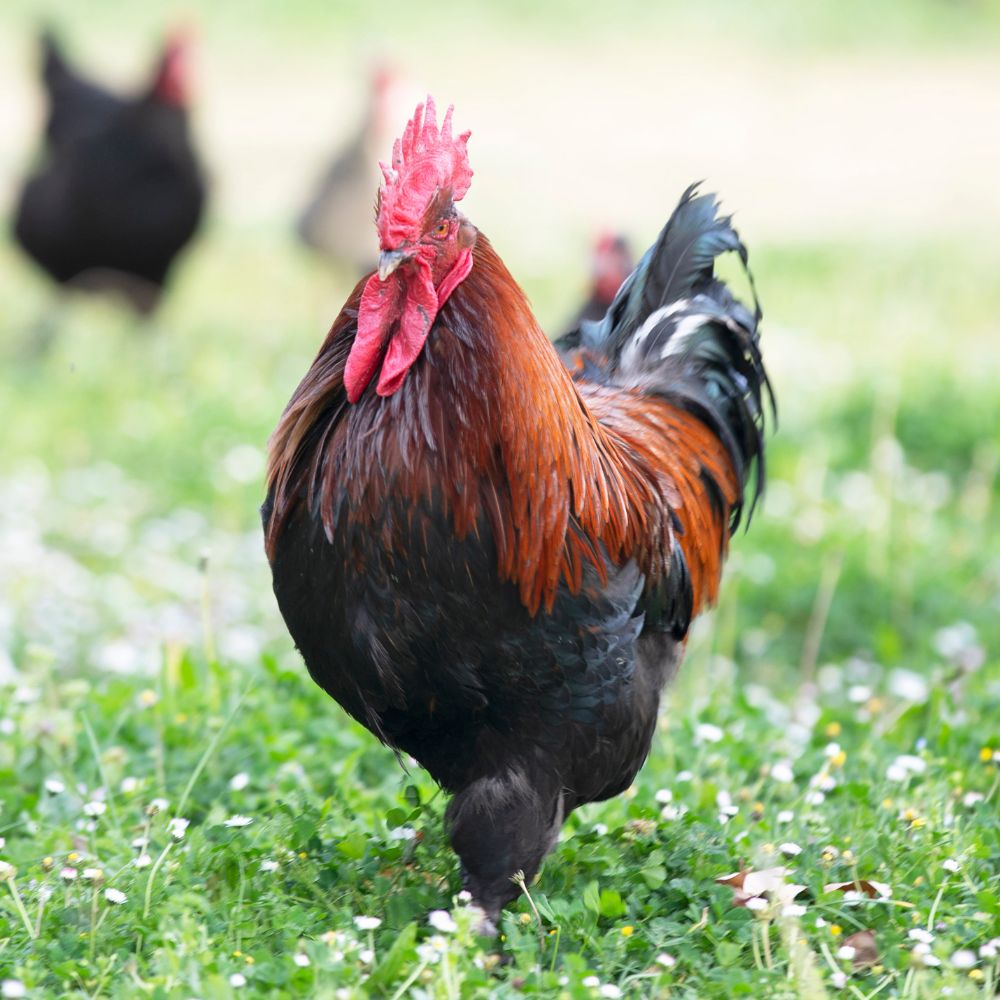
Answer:
<svg viewBox="0 0 1000 1000"><path fill-rule="evenodd" d="M155 328L75 302L48 358L7 365L0 978L53 997L992 995L996 292L956 305L990 258L755 263L783 407L767 500L636 786L571 818L530 887L539 918L512 907L499 944L456 900L443 796L311 684L269 593L261 449L335 307L328 277L276 233L223 230ZM14 358L48 291L3 264ZM900 303L913 270L928 278ZM818 308L831 288L855 294ZM894 351L894 310L961 311L950 360L929 337ZM805 886L792 909L734 906L715 881L776 866ZM825 888L854 879L892 895ZM428 923L439 909L456 930ZM838 950L863 929L877 964L854 970Z"/></svg>

